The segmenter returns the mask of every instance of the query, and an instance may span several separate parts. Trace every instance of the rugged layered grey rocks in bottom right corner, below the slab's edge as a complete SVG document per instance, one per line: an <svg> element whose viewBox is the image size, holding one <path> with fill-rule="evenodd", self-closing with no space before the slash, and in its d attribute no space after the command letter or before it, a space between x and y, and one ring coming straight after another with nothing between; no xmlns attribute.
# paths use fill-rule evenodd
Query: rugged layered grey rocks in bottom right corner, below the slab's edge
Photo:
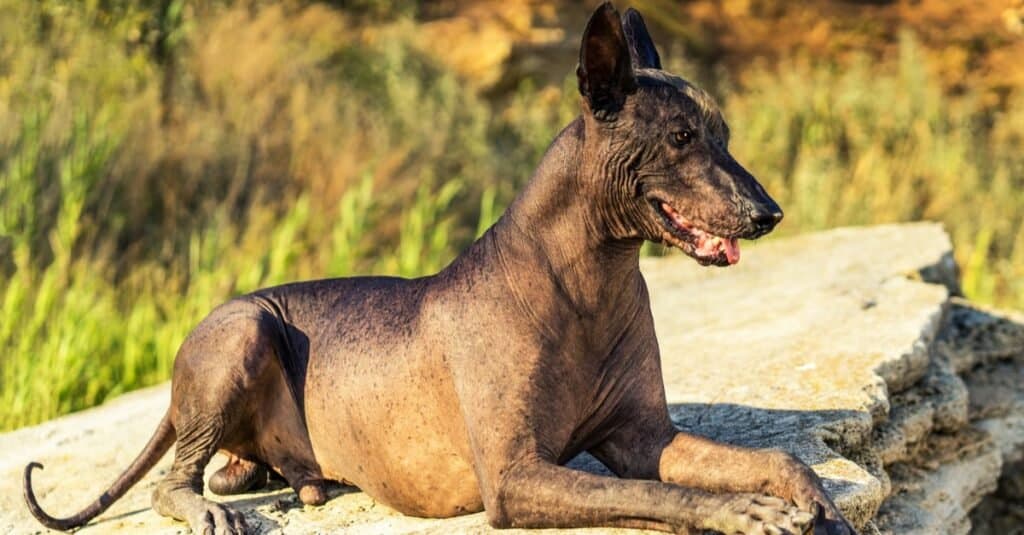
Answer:
<svg viewBox="0 0 1024 535"><path fill-rule="evenodd" d="M893 493L876 519L883 533L1024 534L1024 323L1012 313L988 311L953 298L936 340L933 367L955 372L969 393L962 397L948 380L926 376L908 393L931 384L943 398L948 415L901 462L889 466ZM893 397L893 417L882 427L906 421L918 430L931 413L913 404L912 417L900 417L904 394ZM936 400L926 408L938 407ZM971 426L963 423L964 410ZM933 411L934 412L934 411ZM970 429L970 430L969 430ZM953 437L977 437L977 448ZM886 439L891 439L886 435ZM886 440L878 445L888 445ZM965 453L966 452L966 453ZM999 470L1001 466L1001 471ZM994 491L994 492L993 492ZM970 512L970 515L968 515Z"/></svg>

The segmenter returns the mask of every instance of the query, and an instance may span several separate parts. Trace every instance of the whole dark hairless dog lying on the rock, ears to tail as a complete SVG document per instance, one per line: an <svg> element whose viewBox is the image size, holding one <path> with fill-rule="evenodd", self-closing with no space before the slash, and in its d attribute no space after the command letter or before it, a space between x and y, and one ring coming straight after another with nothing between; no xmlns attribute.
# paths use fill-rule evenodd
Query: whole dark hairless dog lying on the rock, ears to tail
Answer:
<svg viewBox="0 0 1024 535"><path fill-rule="evenodd" d="M581 117L476 243L431 277L303 282L219 306L178 352L171 407L135 462L67 519L39 506L30 464L33 515L84 525L173 443L153 506L196 533L246 531L202 497L218 450L221 494L272 470L305 503L340 481L407 515L482 509L497 528L853 533L795 457L669 419L640 246L728 261L697 254L662 203L724 238L757 238L781 211L729 155L710 99L659 67L636 11L599 7L581 49ZM618 478L562 466L584 451Z"/></svg>

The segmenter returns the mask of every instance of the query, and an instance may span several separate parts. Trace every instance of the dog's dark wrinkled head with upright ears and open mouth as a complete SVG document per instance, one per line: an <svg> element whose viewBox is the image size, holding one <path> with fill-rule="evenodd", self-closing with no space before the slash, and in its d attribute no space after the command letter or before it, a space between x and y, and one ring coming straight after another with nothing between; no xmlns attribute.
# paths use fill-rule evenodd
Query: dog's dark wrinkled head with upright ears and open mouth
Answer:
<svg viewBox="0 0 1024 535"><path fill-rule="evenodd" d="M577 69L590 175L618 238L682 249L701 264L739 260L739 239L769 233L782 210L729 154L715 100L662 70L643 18L610 4L587 24Z"/></svg>

